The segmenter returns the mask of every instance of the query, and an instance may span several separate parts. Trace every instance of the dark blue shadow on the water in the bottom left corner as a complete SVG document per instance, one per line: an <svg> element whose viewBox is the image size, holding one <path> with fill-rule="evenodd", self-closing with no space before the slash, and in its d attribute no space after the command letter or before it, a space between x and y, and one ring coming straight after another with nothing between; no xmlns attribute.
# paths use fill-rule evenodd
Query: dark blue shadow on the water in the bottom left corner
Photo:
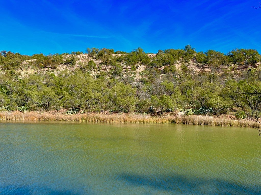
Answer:
<svg viewBox="0 0 261 195"><path fill-rule="evenodd" d="M43 186L15 186L15 185L8 185L8 186L0 186L0 194L1 195L33 195L33 194L46 194L46 195L80 195L86 194L85 193L78 193L73 192L70 190L53 190L49 187ZM92 194L87 192L87 194Z"/></svg>

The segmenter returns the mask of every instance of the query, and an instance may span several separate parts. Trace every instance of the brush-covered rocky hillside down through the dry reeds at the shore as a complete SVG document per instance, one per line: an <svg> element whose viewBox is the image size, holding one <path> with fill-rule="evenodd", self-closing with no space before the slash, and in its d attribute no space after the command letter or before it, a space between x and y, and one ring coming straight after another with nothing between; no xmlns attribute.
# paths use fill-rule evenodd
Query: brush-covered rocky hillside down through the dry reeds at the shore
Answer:
<svg viewBox="0 0 261 195"><path fill-rule="evenodd" d="M197 52L189 45L157 54L146 54L141 48L129 53L87 48L86 53L32 56L1 51L1 119L244 126L244 121L195 115L259 118L259 62L254 49L224 54ZM60 109L66 109L68 115L37 114ZM19 112L11 112L16 110ZM175 110L185 116L153 117Z"/></svg>

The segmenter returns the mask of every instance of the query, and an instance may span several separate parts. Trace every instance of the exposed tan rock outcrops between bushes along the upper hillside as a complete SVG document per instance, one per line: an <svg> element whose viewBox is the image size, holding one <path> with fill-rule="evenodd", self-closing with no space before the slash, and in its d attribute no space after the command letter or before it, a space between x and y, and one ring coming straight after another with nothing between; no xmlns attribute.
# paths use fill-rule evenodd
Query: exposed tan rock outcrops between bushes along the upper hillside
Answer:
<svg viewBox="0 0 261 195"><path fill-rule="evenodd" d="M126 54L111 54L111 56L113 57L120 57L120 56L124 56ZM147 56L150 57L150 59L152 60L153 57L157 56L157 54L147 54ZM62 70L69 70L69 71L75 71L75 69L81 69L82 68L82 64L88 64L89 61L93 61L96 65L97 69L89 69L88 71L92 74L95 75L101 71L104 71L106 73L110 73L111 70L114 69L114 66L112 66L111 64L103 64L102 60L100 59L96 59L94 57L91 57L89 54L64 54L62 55L63 57L63 61L65 62L66 59L71 59L71 58L75 58L75 62L73 64L65 64L65 63L60 63L60 64L56 64L55 68L52 68L51 66L48 67L37 67L35 66L35 61L34 60L24 60L21 62L21 67L18 69L18 71L21 73L21 76L25 76L27 74L32 74L35 72L42 72L42 73L47 73L47 72L54 72L55 74L58 74L60 71ZM140 73L144 70L146 70L146 68L150 68L150 66L146 65L146 64L142 64L140 62L137 62L135 65L136 69L134 70L134 72L132 72L132 66L125 64L124 62L119 62L118 63L124 70L124 76L129 75L129 72L131 72L132 74L135 73L135 79L139 79L141 78ZM198 63L196 58L193 57L193 59L189 60L189 62L182 62L182 60L176 60L173 65L175 66L175 68L177 70L182 70L182 65L185 65L188 69L188 71L191 72L195 72L195 73L210 73L213 71L213 67L211 67L210 64L207 63ZM247 68L257 68L260 65L260 62L254 63L254 64L249 64L249 65L238 65L238 64L227 64L227 65L220 65L217 68L214 68L215 71L221 73L222 70L231 70L232 72L237 72L238 74L240 74L241 70L245 70ZM100 68L99 68L100 67ZM161 72L163 72L165 67L169 67L169 65L165 65L165 66L161 66L161 67L157 67L157 69ZM163 72L164 73L164 72Z"/></svg>

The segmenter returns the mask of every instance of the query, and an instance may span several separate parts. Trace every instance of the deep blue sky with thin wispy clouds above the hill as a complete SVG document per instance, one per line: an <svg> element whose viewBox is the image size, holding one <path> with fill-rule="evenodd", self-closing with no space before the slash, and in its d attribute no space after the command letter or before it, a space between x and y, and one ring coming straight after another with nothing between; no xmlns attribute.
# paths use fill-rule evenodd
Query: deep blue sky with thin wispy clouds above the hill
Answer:
<svg viewBox="0 0 261 195"><path fill-rule="evenodd" d="M258 1L2 1L0 50L21 54L235 48L261 53Z"/></svg>

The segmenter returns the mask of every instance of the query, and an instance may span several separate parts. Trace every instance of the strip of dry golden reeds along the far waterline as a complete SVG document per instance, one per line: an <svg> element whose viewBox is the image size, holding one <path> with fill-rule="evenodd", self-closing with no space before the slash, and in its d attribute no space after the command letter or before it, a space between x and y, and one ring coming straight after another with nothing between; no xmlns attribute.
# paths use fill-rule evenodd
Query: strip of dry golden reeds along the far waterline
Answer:
<svg viewBox="0 0 261 195"><path fill-rule="evenodd" d="M0 112L0 120L48 120L48 121L87 121L87 122L129 122L129 123L177 123L189 125L260 127L260 124L250 120L231 120L213 118L211 116L151 116L141 114L103 114L88 113L67 115L50 112Z"/></svg>

